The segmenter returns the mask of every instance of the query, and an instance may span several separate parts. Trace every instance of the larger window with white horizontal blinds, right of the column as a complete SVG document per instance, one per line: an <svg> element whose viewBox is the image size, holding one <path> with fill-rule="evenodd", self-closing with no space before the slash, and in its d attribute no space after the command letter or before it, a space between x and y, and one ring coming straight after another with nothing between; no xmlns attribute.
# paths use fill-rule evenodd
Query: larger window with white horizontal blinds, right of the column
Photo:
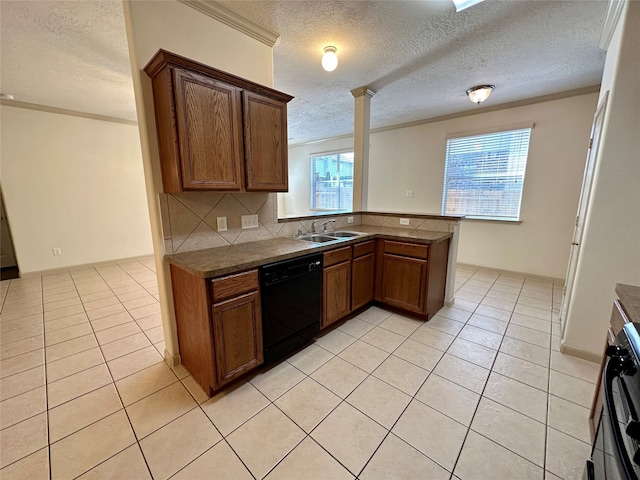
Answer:
<svg viewBox="0 0 640 480"><path fill-rule="evenodd" d="M531 127L447 140L443 215L519 220Z"/></svg>

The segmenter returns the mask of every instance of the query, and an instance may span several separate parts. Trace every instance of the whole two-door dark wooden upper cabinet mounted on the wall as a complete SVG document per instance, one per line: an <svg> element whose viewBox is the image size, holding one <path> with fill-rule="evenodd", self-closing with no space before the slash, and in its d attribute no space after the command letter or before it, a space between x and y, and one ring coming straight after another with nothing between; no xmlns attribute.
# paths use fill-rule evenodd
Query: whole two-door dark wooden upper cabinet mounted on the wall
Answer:
<svg viewBox="0 0 640 480"><path fill-rule="evenodd" d="M144 70L165 192L287 190L293 97L164 50Z"/></svg>

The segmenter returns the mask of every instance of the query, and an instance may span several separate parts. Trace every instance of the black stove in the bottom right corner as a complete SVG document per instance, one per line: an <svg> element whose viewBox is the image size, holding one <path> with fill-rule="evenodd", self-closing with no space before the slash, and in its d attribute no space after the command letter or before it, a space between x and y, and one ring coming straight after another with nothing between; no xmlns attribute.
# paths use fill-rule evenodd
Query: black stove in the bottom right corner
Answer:
<svg viewBox="0 0 640 480"><path fill-rule="evenodd" d="M604 402L585 480L640 477L640 324L627 323L607 348Z"/></svg>

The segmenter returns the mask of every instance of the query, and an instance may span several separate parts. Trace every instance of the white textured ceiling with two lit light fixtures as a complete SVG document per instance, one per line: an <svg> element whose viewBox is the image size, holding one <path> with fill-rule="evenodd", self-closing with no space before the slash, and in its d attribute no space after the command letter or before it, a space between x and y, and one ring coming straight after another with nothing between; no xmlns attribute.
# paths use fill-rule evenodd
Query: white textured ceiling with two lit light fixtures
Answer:
<svg viewBox="0 0 640 480"><path fill-rule="evenodd" d="M222 1L280 33L275 88L294 95L290 143L353 131L350 90L369 86L378 128L598 84L607 2L450 0ZM0 1L0 89L16 100L135 119L122 4ZM339 65L322 70L326 45Z"/></svg>

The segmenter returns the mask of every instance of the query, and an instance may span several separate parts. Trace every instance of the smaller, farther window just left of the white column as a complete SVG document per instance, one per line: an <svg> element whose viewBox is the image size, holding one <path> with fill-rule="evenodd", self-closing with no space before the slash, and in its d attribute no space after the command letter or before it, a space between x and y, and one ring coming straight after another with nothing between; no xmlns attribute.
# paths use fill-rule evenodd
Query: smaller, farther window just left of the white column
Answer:
<svg viewBox="0 0 640 480"><path fill-rule="evenodd" d="M311 155L311 209L351 210L353 152Z"/></svg>

